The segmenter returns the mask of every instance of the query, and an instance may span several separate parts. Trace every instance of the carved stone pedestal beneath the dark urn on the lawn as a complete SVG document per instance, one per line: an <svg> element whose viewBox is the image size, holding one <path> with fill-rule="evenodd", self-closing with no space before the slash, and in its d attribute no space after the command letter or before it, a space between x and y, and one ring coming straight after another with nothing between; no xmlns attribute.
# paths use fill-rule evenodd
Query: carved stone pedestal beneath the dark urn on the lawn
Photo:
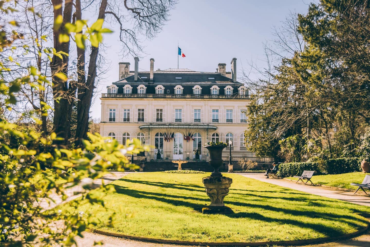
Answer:
<svg viewBox="0 0 370 247"><path fill-rule="evenodd" d="M203 214L229 214L233 213L231 208L226 207L223 198L228 195L232 179L228 177L203 177L203 184L206 187L206 193L211 199L208 207L203 207Z"/></svg>

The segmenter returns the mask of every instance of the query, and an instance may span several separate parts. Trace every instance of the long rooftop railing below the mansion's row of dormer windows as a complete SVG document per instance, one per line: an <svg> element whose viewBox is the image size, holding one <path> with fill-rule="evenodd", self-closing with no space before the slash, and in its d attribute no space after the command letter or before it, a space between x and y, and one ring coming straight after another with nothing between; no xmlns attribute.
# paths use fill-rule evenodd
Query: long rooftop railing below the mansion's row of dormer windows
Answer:
<svg viewBox="0 0 370 247"><path fill-rule="evenodd" d="M165 98L165 99L249 99L249 95L232 94L154 94L154 93L102 93L102 98Z"/></svg>

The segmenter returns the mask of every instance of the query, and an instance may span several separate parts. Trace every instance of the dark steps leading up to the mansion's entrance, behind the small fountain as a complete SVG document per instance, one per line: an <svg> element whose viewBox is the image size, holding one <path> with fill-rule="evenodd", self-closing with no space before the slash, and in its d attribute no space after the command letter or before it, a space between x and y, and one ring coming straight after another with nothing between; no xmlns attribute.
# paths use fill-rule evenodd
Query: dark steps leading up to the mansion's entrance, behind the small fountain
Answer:
<svg viewBox="0 0 370 247"><path fill-rule="evenodd" d="M188 163L181 165L182 170L195 170L212 172L213 168L209 166L207 161L188 161ZM177 164L172 163L171 160L166 161L148 161L145 163L144 171L170 171L177 170Z"/></svg>

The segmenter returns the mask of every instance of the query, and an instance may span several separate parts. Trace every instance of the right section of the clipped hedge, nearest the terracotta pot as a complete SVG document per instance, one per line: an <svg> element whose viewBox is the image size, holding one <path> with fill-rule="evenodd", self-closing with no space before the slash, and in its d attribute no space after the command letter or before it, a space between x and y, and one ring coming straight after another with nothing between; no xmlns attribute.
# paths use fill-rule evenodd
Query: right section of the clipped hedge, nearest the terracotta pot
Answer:
<svg viewBox="0 0 370 247"><path fill-rule="evenodd" d="M361 170L361 158L333 158L323 163L324 174L342 174Z"/></svg>

